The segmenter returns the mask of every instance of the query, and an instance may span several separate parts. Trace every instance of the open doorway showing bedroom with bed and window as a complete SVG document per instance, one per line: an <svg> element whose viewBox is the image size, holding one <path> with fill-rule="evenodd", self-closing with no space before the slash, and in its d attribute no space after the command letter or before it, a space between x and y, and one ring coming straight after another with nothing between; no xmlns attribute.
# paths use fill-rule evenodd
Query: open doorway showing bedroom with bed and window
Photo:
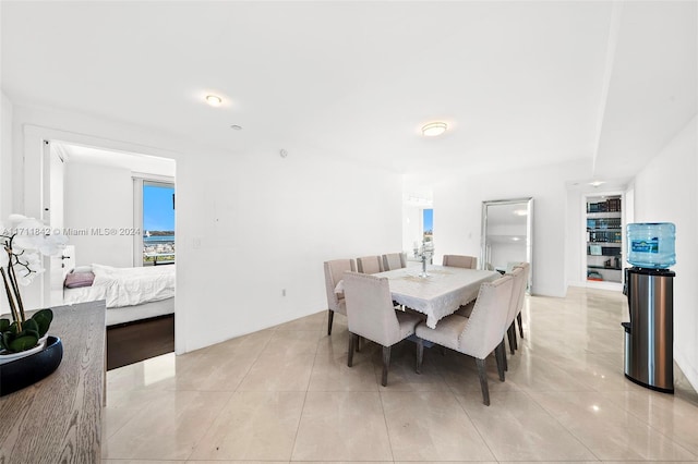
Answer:
<svg viewBox="0 0 698 464"><path fill-rule="evenodd" d="M56 170L61 175L51 168L51 192L62 205L52 202L51 209L62 215L72 255L64 260L61 303L106 301L107 369L173 352L174 160L62 142L48 145L51 159L61 163ZM152 190L167 202L151 198ZM146 233L146 227L157 231ZM152 232L160 241L155 246L146 240ZM146 262L146 253L170 266Z"/></svg>

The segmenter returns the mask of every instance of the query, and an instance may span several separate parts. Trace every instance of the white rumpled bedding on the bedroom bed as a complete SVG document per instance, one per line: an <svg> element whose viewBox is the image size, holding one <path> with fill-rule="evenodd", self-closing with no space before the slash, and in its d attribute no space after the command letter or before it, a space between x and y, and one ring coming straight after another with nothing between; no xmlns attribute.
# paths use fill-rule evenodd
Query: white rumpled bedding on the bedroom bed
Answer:
<svg viewBox="0 0 698 464"><path fill-rule="evenodd" d="M107 308L134 306L174 296L174 266L115 268L92 265L92 286L63 292L63 303L105 300ZM77 291L76 291L77 290Z"/></svg>

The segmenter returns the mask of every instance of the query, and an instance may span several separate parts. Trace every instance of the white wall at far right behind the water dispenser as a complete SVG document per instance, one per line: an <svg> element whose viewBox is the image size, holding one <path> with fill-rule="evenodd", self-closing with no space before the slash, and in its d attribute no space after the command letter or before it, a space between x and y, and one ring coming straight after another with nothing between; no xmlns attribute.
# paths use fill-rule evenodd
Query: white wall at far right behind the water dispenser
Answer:
<svg viewBox="0 0 698 464"><path fill-rule="evenodd" d="M694 119L635 180L635 221L676 224L674 358L698 389L698 120Z"/></svg>

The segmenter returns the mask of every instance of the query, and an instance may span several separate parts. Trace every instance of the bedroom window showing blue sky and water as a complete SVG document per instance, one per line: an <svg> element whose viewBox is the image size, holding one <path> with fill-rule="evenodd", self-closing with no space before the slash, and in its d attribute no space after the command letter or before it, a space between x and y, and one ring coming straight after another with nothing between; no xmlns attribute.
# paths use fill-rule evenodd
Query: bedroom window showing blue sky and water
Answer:
<svg viewBox="0 0 698 464"><path fill-rule="evenodd" d="M174 185L143 182L143 266L174 262Z"/></svg>

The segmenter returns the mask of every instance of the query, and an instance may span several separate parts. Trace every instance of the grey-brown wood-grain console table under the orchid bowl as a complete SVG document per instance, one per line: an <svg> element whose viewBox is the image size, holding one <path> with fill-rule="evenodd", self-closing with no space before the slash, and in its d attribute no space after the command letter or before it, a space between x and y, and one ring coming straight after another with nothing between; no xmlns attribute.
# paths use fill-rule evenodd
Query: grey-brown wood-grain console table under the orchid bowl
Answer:
<svg viewBox="0 0 698 464"><path fill-rule="evenodd" d="M99 463L105 394L105 302L53 308L63 361L0 398L0 463Z"/></svg>

